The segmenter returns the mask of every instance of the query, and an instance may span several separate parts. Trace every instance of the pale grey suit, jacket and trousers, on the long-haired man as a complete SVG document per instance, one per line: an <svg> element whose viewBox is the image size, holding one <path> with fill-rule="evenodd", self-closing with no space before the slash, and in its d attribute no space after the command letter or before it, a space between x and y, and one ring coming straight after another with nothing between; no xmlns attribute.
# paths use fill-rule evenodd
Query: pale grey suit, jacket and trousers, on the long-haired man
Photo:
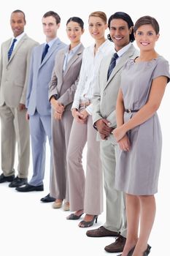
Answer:
<svg viewBox="0 0 170 256"><path fill-rule="evenodd" d="M112 56L107 56L101 62L93 95L93 124L101 118L106 118L110 122L110 127L116 127L115 108L120 88L121 69L128 59L134 59L138 55L139 53L134 48L134 45L131 45L123 53L120 61L117 62L109 76L109 80L107 80L107 72ZM98 134L98 140L100 140L101 145L101 162L104 170L104 188L107 204L104 227L108 230L120 232L122 236L126 236L125 196L123 192L117 191L114 187L116 142L112 134L109 135L107 140L101 140Z"/></svg>

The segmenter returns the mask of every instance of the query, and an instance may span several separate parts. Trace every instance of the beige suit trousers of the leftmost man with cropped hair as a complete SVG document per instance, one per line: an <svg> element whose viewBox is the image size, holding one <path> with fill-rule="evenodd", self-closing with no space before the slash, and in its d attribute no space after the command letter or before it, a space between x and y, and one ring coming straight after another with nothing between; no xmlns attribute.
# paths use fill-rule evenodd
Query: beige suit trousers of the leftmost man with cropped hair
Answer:
<svg viewBox="0 0 170 256"><path fill-rule="evenodd" d="M1 170L4 176L15 174L15 144L18 143L18 177L27 178L29 167L29 126L26 110L0 107L1 116Z"/></svg>

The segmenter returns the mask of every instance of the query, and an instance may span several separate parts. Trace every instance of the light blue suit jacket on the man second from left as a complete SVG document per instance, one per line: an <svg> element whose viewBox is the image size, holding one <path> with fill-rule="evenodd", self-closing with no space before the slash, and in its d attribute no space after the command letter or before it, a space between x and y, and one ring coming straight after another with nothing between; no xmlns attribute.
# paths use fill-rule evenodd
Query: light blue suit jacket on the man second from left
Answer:
<svg viewBox="0 0 170 256"><path fill-rule="evenodd" d="M48 86L51 80L55 56L59 50L66 48L66 44L58 38L48 50L42 61L42 52L45 44L34 48L31 56L31 66L26 94L26 107L28 113L34 115L35 110L42 116L51 114L51 106L48 100Z"/></svg>

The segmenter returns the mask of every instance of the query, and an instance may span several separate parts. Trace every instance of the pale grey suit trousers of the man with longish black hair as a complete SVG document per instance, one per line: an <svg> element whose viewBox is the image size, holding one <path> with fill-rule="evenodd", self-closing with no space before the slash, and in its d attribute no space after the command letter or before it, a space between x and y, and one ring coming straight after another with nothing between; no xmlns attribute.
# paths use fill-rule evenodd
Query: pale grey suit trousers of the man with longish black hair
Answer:
<svg viewBox="0 0 170 256"><path fill-rule="evenodd" d="M126 236L127 221L125 213L125 193L115 189L116 143L113 135L101 140L101 162L104 170L104 189L106 193L106 223L108 230Z"/></svg>

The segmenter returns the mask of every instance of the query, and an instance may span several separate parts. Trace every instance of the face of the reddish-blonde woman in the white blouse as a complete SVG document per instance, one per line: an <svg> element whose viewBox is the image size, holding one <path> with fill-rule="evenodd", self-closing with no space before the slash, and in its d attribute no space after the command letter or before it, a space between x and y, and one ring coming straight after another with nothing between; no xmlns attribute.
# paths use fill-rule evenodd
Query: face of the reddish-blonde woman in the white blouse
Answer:
<svg viewBox="0 0 170 256"><path fill-rule="evenodd" d="M103 39L107 23L99 17L90 16L88 20L88 30L94 39Z"/></svg>

